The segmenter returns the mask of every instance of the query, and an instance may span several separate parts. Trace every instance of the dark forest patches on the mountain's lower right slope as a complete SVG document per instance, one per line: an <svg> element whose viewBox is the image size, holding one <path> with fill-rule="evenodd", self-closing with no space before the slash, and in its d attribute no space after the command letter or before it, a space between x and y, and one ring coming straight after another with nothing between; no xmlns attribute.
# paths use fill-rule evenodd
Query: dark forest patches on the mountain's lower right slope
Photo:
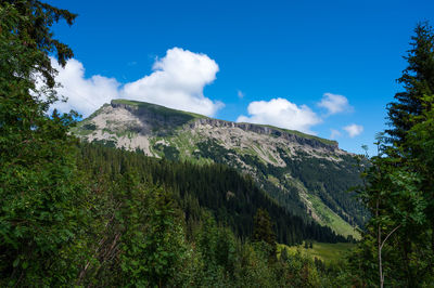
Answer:
<svg viewBox="0 0 434 288"><path fill-rule="evenodd" d="M209 158L214 162L225 163L243 171L245 168L237 161L233 155L255 170L255 180L264 191L267 192L279 205L306 221L306 207L299 198L299 187L294 180L301 181L309 194L317 195L331 210L342 217L349 224L362 227L368 212L363 205L356 200L356 194L348 193L350 187L359 185L360 171L357 168L357 160L347 155L341 156L340 160L311 157L307 153L298 152L296 155L288 155L288 152L277 147L280 157L285 161L285 167L277 167L265 163L257 156L239 155L231 148L226 148L215 140L206 140L197 144L197 150L193 156L196 158ZM327 156L327 155L324 155ZM285 180L290 174L293 179ZM270 183L269 176L280 180L284 189Z"/></svg>

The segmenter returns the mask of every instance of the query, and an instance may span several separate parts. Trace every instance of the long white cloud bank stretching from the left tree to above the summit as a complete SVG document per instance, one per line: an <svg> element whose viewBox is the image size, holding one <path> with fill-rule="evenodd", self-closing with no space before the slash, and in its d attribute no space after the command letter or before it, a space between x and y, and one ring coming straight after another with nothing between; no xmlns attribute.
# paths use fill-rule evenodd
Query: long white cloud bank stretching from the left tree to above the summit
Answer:
<svg viewBox="0 0 434 288"><path fill-rule="evenodd" d="M114 78L99 75L85 78L84 65L74 58L64 68L54 60L52 63L59 70L56 80L63 86L58 92L68 99L67 103L54 105L61 112L75 109L87 117L104 103L119 97L206 116L215 115L225 106L203 94L204 87L216 79L217 63L205 54L180 48L169 49L163 58L157 58L151 75L124 87Z"/></svg>

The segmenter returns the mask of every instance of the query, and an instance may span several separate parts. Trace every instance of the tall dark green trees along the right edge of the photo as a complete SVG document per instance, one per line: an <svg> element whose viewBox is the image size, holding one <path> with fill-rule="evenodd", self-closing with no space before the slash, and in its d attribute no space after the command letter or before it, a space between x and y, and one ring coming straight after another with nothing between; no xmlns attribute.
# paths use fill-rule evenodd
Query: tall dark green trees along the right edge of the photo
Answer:
<svg viewBox="0 0 434 288"><path fill-rule="evenodd" d="M405 92L388 106L391 129L387 136L379 134L379 155L370 159L359 191L372 219L353 263L361 279L381 287L434 280L434 34L427 24L414 32L409 66L398 79Z"/></svg>

